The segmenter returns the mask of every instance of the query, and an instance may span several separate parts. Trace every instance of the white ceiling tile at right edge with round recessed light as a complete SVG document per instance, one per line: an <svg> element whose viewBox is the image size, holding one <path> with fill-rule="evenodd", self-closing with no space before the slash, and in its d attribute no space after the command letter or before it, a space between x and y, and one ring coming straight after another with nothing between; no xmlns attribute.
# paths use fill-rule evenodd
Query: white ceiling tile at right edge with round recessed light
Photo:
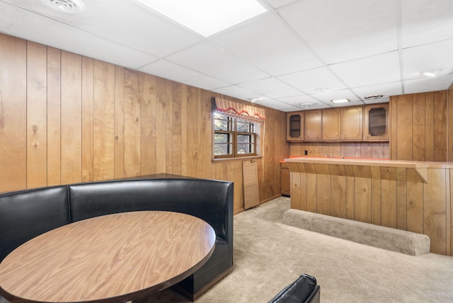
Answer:
<svg viewBox="0 0 453 303"><path fill-rule="evenodd" d="M406 48L403 50L403 69L404 79L425 77L420 72L453 73L453 39Z"/></svg>

